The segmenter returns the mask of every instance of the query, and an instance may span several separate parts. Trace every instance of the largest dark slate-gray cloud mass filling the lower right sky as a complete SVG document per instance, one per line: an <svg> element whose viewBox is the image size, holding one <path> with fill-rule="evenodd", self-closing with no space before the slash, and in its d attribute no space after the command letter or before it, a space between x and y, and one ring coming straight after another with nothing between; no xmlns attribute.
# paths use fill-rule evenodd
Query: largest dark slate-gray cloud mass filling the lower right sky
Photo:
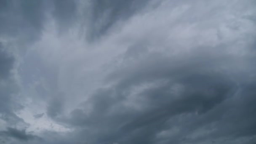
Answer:
<svg viewBox="0 0 256 144"><path fill-rule="evenodd" d="M205 140L218 141L216 139L222 137L235 139L238 133L236 125L240 125L240 131L248 130L248 134L241 132L245 136L255 135L254 128L249 130L246 125L237 124L240 120L229 123L233 121L233 117L247 115L235 109L252 109L242 106L247 100L234 100L241 99L236 96L250 95L240 92L241 89L249 87L246 84L248 82L244 84L247 86L239 86L225 73L214 71L230 61L224 61L221 56L215 58L207 53L203 54L205 56L192 56L183 59L184 61L164 58L163 55L155 53L149 54L150 61L141 61L139 64L132 64L133 67L115 71L117 73L113 76L111 74L108 82L109 79L118 81L114 87L98 90L83 104L84 109L75 109L70 113L70 118L60 121L84 128L80 133L91 137L97 135L96 143L197 143ZM134 88L147 83L153 83L154 86L133 94L138 97L137 103L142 107L140 111L126 107L124 102L132 95ZM252 98L248 99L254 101ZM238 108L239 106L241 107ZM88 108L92 111L86 114ZM254 121L255 117L249 116L245 120ZM174 136L171 132L168 136L168 131L174 125L180 130ZM253 126L252 123L248 125ZM93 128L100 131L93 132ZM189 137L191 133L208 133L200 132L201 128L212 129L212 134L203 135L205 138ZM162 131L167 131L167 137L160 139L157 135Z"/></svg>

